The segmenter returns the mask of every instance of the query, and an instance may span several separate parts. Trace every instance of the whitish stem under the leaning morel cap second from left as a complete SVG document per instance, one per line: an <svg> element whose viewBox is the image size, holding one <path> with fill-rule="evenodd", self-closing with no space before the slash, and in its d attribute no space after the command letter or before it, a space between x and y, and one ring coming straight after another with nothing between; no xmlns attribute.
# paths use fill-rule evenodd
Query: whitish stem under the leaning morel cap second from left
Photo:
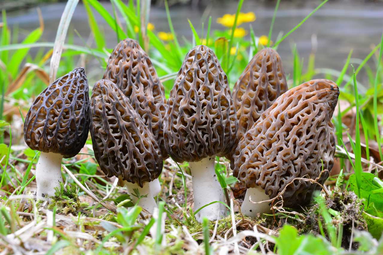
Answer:
<svg viewBox="0 0 383 255"><path fill-rule="evenodd" d="M152 190L152 185L150 184L151 182L144 183L144 186L142 188L138 186L137 183L131 183L128 181L124 181L124 184L126 188L128 189L128 194L130 195L130 198L132 199L133 203L137 203L138 201L138 198L133 195L135 194L133 189L137 189L140 196L147 195L146 198L140 199L138 205L141 206L146 211L148 211L150 214L153 214L154 208L157 207L157 204L155 203L154 195L152 193L153 190Z"/></svg>

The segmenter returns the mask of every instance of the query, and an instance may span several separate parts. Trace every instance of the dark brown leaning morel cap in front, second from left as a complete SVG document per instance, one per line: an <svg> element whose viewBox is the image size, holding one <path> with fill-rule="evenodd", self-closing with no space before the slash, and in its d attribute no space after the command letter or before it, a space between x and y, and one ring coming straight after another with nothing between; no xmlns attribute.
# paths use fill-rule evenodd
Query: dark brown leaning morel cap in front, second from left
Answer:
<svg viewBox="0 0 383 255"><path fill-rule="evenodd" d="M109 80L99 80L90 100L95 158L108 176L131 183L159 177L162 157L153 134L119 88Z"/></svg>

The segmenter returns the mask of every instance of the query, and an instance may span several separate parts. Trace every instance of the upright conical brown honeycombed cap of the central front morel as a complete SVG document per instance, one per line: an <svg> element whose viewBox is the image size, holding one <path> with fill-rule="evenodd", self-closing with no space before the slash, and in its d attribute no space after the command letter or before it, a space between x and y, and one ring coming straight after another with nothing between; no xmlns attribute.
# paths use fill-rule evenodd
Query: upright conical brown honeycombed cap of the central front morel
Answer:
<svg viewBox="0 0 383 255"><path fill-rule="evenodd" d="M238 128L228 79L214 52L196 46L185 57L170 92L165 147L177 162L224 156Z"/></svg>

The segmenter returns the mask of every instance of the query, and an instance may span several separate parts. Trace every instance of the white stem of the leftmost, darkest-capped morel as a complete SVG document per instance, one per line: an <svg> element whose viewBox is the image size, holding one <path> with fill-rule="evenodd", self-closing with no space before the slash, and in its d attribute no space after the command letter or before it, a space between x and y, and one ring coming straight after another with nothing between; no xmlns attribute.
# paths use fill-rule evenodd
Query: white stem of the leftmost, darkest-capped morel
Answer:
<svg viewBox="0 0 383 255"><path fill-rule="evenodd" d="M62 155L54 152L41 152L36 164L37 200L49 200L54 196L54 188L62 182Z"/></svg>

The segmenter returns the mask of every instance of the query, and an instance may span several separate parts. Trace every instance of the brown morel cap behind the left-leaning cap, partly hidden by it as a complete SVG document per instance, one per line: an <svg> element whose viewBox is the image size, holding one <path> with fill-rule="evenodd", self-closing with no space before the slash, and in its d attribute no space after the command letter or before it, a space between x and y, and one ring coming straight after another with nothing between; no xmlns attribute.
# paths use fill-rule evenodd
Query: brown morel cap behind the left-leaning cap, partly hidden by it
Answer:
<svg viewBox="0 0 383 255"><path fill-rule="evenodd" d="M109 57L103 78L124 93L153 133L162 157L167 158L162 125L166 106L164 86L146 52L133 39L121 41Z"/></svg>

